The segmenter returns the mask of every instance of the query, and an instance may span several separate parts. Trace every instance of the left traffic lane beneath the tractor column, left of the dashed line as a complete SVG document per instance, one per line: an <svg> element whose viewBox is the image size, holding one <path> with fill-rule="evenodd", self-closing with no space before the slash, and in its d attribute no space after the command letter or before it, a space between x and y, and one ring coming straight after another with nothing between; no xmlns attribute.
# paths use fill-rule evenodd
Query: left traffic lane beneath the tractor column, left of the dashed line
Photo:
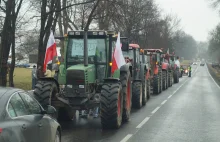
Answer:
<svg viewBox="0 0 220 142"><path fill-rule="evenodd" d="M193 67L195 70L195 67ZM153 95L148 101L146 106L142 107L140 110L132 110L131 119L128 123L123 124L119 130L102 130L100 119L77 119L72 123L62 123L63 142L72 142L72 141L107 141L107 142L116 142L121 141L127 134L134 133L136 127L142 122L146 116L151 116L152 111L160 105L164 100L166 100L171 94L186 81L188 77L183 77L180 79L178 84L174 84L168 90L163 91L159 95Z"/></svg>

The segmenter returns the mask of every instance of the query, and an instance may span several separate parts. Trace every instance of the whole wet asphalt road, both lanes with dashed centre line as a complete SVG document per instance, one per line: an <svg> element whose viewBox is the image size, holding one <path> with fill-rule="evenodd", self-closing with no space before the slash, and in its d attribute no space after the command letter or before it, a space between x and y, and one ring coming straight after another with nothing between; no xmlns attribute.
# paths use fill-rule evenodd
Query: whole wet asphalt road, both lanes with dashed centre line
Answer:
<svg viewBox="0 0 220 142"><path fill-rule="evenodd" d="M119 130L102 131L99 118L62 123L62 142L181 142L220 141L220 88L207 67L194 66L145 107L132 110Z"/></svg>

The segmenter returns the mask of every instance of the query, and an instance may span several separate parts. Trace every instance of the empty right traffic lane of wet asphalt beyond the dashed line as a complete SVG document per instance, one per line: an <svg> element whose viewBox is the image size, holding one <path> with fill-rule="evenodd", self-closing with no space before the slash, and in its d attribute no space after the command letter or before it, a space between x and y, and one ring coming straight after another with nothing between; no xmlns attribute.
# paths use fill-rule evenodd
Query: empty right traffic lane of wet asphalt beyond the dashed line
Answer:
<svg viewBox="0 0 220 142"><path fill-rule="evenodd" d="M206 67L194 76L128 140L219 141L220 89Z"/></svg>

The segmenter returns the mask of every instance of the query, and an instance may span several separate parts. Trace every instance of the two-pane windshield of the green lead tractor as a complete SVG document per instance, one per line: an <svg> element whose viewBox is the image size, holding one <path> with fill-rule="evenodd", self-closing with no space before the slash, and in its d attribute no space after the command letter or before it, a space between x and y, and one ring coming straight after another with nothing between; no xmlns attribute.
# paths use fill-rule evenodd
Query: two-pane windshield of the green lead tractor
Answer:
<svg viewBox="0 0 220 142"><path fill-rule="evenodd" d="M105 39L88 39L88 58L90 63L94 62L95 57L98 60L98 62L105 62L105 55ZM84 61L83 39L69 39L67 60L68 62Z"/></svg>

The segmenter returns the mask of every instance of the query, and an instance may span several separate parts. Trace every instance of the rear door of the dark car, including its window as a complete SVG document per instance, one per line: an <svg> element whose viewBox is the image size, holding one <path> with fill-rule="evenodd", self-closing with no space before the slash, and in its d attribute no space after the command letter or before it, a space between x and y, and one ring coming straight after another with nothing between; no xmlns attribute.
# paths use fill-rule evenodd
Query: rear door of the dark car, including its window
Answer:
<svg viewBox="0 0 220 142"><path fill-rule="evenodd" d="M9 103L16 113L16 116L11 118L20 126L21 137L25 142L39 142L35 117L31 115L20 95L15 93Z"/></svg>

